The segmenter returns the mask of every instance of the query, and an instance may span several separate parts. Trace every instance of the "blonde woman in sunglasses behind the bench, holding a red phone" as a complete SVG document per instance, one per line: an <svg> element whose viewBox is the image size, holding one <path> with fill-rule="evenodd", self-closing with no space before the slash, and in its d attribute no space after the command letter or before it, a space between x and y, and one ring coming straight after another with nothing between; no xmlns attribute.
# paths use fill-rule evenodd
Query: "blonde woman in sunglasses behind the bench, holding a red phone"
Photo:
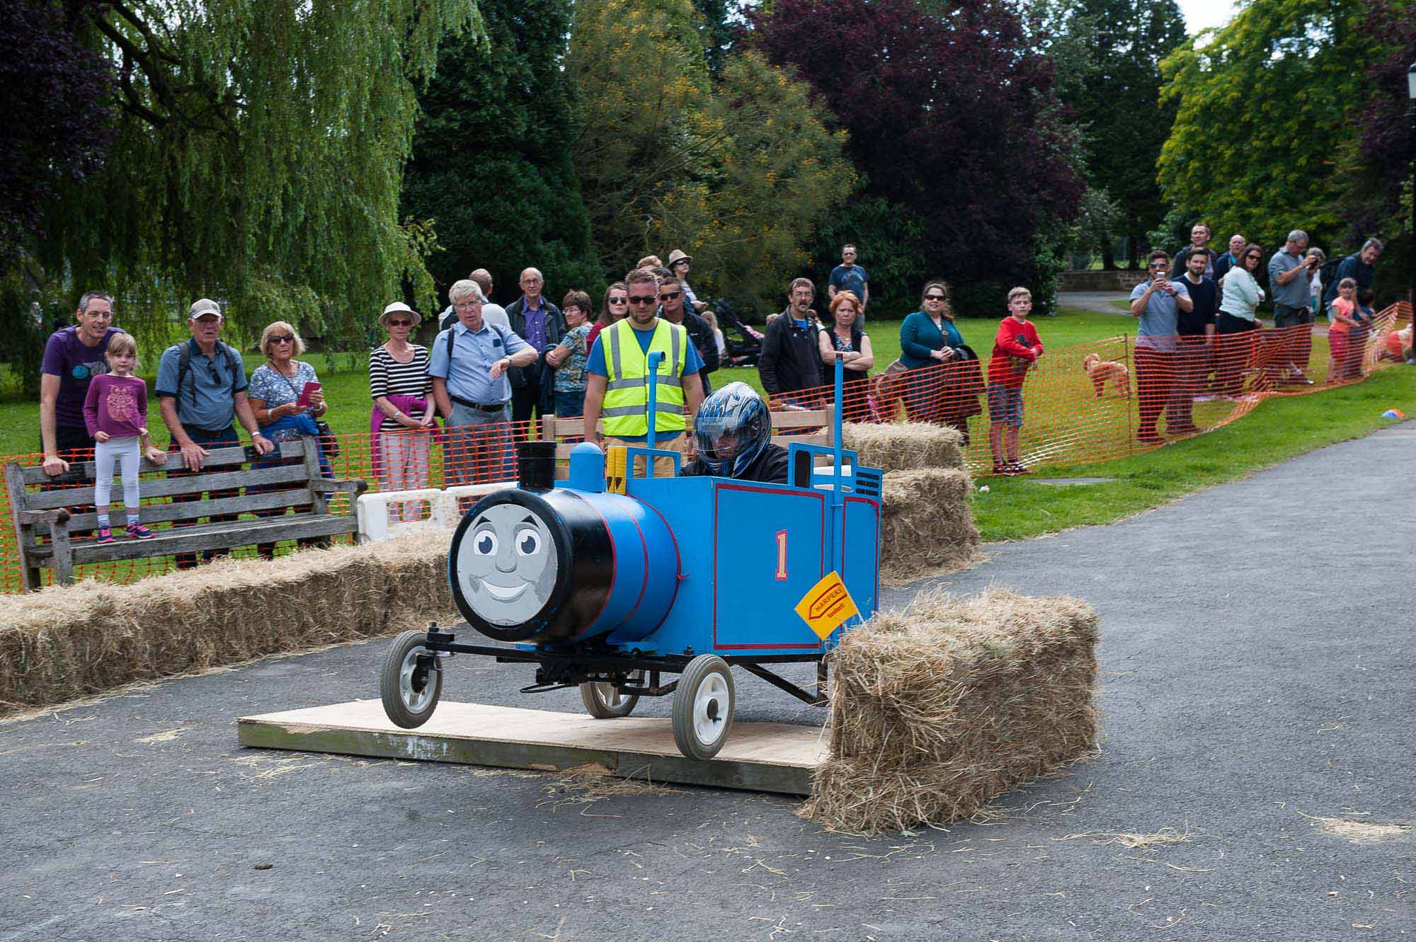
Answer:
<svg viewBox="0 0 1416 942"><path fill-rule="evenodd" d="M286 321L275 321L261 331L261 352L266 355L266 362L256 366L251 373L251 385L246 388L246 399L251 400L251 410L256 414L256 424L261 434L275 443L276 450L270 460L255 464L255 468L268 468L285 464L280 458L280 443L312 436L319 441L319 427L316 419L324 414L324 393L320 390L320 380L314 375L314 366L296 359L304 352L304 341ZM319 444L316 444L319 447ZM290 463L299 458L289 458ZM331 477L330 463L320 450L320 472ZM303 487L303 485L296 485ZM269 491L290 489L289 485L265 484L246 488L246 494L265 494ZM258 511L258 516L279 516L287 508ZM309 540L302 540L302 545ZM262 556L275 556L275 543L261 543L256 546Z"/></svg>

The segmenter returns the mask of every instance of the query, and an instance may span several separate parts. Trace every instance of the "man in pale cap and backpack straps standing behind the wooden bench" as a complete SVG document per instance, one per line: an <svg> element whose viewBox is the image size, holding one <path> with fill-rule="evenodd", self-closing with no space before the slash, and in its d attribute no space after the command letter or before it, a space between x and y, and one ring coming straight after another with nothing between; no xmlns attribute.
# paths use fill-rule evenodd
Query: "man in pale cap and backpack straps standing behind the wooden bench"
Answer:
<svg viewBox="0 0 1416 942"><path fill-rule="evenodd" d="M156 393L163 423L171 433L169 451L181 451L185 471L169 471L169 477L184 477L201 471L211 448L239 446L234 420L239 419L251 436L251 447L258 455L269 454L275 446L261 434L251 403L246 402L246 368L241 352L221 341L224 317L221 306L200 298L188 311L187 327L191 339L163 351L157 364ZM239 491L212 491L210 499L236 496ZM177 494L174 501L200 501L198 494ZM236 515L212 516L211 522L234 521ZM225 552L207 553L211 559ZM177 556L177 569L191 569L197 557Z"/></svg>

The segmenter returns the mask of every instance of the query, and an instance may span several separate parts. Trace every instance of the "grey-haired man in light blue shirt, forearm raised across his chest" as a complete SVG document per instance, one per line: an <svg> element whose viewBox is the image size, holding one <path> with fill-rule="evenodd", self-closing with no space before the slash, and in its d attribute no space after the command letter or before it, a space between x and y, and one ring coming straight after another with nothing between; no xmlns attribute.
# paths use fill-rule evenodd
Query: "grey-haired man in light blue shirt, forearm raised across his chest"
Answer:
<svg viewBox="0 0 1416 942"><path fill-rule="evenodd" d="M460 284L460 281L459 281ZM513 331L481 320L481 293L453 286L457 322L438 334L428 356L433 402L443 414L446 487L510 481L511 383L507 371L537 361L537 351Z"/></svg>

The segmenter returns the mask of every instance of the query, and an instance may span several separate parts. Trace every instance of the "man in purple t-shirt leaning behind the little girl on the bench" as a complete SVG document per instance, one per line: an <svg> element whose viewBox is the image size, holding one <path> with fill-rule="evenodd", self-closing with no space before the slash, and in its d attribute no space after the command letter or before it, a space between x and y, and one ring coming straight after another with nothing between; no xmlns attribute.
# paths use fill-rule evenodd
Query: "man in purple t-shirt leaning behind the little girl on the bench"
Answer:
<svg viewBox="0 0 1416 942"><path fill-rule="evenodd" d="M84 397L89 380L108 372L108 338L123 332L112 327L113 298L105 291L84 294L74 318L76 327L50 337L40 366L40 447L44 472L51 477L68 471L76 453L93 447L84 423Z"/></svg>

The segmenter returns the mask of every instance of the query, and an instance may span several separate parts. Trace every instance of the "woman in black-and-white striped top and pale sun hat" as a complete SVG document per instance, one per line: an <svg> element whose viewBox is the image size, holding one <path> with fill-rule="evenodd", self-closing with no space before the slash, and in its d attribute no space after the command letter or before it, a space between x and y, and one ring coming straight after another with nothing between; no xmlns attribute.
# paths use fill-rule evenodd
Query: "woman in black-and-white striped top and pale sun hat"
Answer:
<svg viewBox="0 0 1416 942"><path fill-rule="evenodd" d="M428 446L433 427L433 380L428 375L428 348L409 344L408 335L422 317L402 301L384 308L378 322L388 342L368 356L368 395L374 475L381 491L412 491L428 487ZM389 519L416 521L419 501L388 508Z"/></svg>

